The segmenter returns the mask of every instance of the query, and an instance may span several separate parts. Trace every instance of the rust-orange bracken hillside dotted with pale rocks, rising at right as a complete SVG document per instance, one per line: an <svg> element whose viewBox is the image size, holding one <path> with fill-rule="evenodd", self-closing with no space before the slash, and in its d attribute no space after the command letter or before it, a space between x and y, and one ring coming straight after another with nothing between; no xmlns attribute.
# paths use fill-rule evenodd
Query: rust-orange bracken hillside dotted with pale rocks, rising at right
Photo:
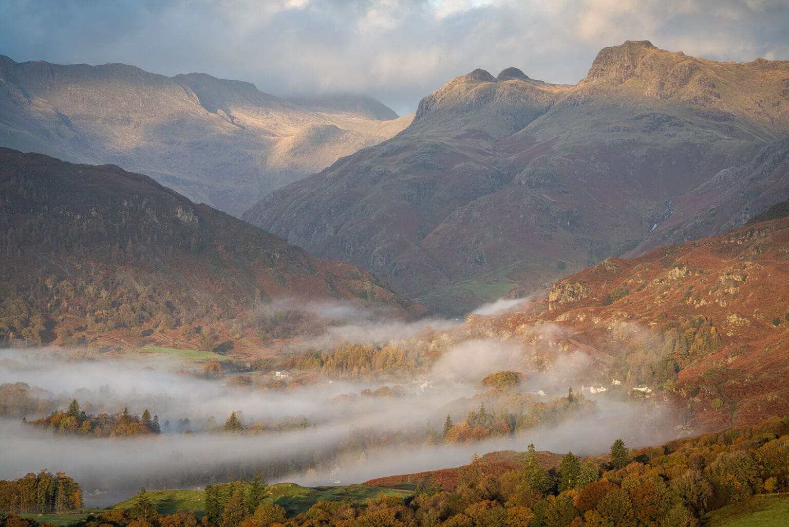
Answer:
<svg viewBox="0 0 789 527"><path fill-rule="evenodd" d="M786 415L789 219L609 258L463 334L523 342L540 368L580 352L585 386L647 387L633 394L685 408L694 431Z"/></svg>

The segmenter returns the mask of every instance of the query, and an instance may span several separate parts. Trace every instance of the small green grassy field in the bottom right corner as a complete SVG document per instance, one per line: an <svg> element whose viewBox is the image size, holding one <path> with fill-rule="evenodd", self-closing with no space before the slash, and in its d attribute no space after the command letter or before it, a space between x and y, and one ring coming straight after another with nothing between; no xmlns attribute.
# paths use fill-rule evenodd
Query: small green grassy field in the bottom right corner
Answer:
<svg viewBox="0 0 789 527"><path fill-rule="evenodd" d="M786 527L789 494L756 495L746 503L732 503L701 518L704 527Z"/></svg>

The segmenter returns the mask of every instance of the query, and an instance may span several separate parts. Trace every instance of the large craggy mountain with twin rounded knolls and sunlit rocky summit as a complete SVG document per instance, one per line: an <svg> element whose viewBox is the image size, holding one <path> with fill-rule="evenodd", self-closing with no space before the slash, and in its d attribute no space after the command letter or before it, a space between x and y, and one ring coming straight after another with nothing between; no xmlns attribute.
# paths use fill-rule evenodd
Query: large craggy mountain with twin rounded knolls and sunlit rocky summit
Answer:
<svg viewBox="0 0 789 527"><path fill-rule="evenodd" d="M244 217L460 312L742 224L789 197L787 134L789 62L628 41L575 86L514 68L456 77L397 137Z"/></svg>

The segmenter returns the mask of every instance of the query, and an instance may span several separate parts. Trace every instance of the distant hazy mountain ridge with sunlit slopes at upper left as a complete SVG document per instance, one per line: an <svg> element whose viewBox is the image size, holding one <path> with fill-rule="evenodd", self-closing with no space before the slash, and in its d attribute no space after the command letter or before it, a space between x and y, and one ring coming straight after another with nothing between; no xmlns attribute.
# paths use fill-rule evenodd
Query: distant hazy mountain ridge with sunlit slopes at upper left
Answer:
<svg viewBox="0 0 789 527"><path fill-rule="evenodd" d="M0 146L142 171L233 214L409 122L365 97L305 107L204 73L0 56Z"/></svg>

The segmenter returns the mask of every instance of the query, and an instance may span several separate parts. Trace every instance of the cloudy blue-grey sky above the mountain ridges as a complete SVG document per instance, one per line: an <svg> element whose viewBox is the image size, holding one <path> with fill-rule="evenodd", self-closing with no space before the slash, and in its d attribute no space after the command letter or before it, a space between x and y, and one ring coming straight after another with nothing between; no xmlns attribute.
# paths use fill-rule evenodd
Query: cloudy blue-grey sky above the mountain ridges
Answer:
<svg viewBox="0 0 789 527"><path fill-rule="evenodd" d="M399 114L451 77L574 84L624 40L789 58L787 0L0 0L0 54L205 72L275 95L356 92Z"/></svg>

